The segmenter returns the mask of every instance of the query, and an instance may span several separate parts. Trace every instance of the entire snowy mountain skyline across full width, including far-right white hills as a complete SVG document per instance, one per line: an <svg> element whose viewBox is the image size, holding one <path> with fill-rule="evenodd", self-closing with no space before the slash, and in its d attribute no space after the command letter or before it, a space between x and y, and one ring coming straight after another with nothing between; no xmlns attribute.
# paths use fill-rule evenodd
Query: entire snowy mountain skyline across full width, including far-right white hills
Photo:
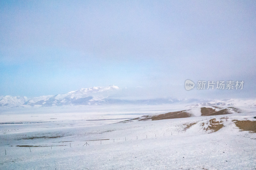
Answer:
<svg viewBox="0 0 256 170"><path fill-rule="evenodd" d="M250 107L256 108L256 100L201 100L201 99L175 99L175 98L158 98L148 100L126 100L120 99L123 95L122 89L116 85L106 87L82 88L64 94L40 96L28 99L20 96L0 96L0 107L17 107L17 106L66 106L66 105L102 105L102 104L133 104L133 105L162 105L179 103L187 105L186 109L199 107Z"/></svg>

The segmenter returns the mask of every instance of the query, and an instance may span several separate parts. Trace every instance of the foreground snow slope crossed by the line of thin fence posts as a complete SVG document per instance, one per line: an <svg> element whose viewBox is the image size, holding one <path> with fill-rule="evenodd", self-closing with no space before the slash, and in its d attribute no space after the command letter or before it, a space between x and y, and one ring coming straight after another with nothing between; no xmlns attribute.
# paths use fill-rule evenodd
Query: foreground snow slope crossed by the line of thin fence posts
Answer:
<svg viewBox="0 0 256 170"><path fill-rule="evenodd" d="M201 125L209 119L190 117L1 134L0 169L255 169L256 134L232 122L255 115L226 115L213 133Z"/></svg>

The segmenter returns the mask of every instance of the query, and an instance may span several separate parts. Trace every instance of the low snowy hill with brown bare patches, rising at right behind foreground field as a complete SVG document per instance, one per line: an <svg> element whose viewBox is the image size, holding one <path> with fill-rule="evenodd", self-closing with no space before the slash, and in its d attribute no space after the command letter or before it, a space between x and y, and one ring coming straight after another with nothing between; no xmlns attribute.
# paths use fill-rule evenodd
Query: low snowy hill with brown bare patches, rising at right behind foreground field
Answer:
<svg viewBox="0 0 256 170"><path fill-rule="evenodd" d="M204 103L188 105L186 107L182 107L180 105L180 107L178 107L179 110L174 109L171 112L143 115L124 122L156 121L201 116L216 117L217 115L241 115L244 113L250 114L256 112L256 107L254 107L255 103L256 100L212 100Z"/></svg>

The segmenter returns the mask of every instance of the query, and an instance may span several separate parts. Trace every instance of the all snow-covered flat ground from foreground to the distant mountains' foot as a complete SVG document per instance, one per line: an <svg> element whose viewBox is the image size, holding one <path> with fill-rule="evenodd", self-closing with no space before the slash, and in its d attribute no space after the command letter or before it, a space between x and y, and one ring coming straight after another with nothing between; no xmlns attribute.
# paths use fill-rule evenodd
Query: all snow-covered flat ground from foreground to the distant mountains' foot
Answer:
<svg viewBox="0 0 256 170"><path fill-rule="evenodd" d="M212 133L203 126L211 116L117 123L178 108L186 106L2 111L0 169L256 169L256 133L232 122L255 121L252 107L214 116L224 127Z"/></svg>

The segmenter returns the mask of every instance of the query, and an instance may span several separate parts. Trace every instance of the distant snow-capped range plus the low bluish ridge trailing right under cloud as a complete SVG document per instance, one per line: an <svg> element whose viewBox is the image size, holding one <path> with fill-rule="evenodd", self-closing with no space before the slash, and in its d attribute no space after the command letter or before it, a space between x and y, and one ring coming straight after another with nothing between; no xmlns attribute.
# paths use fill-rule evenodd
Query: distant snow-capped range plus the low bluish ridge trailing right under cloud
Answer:
<svg viewBox="0 0 256 170"><path fill-rule="evenodd" d="M22 96L0 96L0 107L19 106L65 106L65 105L102 105L102 104L167 104L179 102L178 99L124 100L115 97L121 93L116 85L106 87L82 88L65 94L47 95L34 98Z"/></svg>

